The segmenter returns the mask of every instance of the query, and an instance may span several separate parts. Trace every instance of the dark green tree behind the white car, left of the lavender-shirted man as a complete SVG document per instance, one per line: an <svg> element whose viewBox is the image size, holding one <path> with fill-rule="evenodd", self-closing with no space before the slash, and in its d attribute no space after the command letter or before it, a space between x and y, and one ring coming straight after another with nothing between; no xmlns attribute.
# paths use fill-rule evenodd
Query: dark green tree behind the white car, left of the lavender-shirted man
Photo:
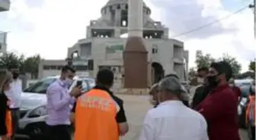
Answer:
<svg viewBox="0 0 256 140"><path fill-rule="evenodd" d="M23 64L24 71L26 73L30 73L32 76L32 79L37 79L39 63L40 63L39 54L29 57L24 61L24 64Z"/></svg>

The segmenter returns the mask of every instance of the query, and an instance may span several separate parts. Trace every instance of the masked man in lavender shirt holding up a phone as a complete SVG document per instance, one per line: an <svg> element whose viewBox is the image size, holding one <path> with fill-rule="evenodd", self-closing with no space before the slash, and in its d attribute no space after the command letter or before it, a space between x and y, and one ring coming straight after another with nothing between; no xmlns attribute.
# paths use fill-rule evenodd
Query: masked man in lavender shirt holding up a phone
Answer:
<svg viewBox="0 0 256 140"><path fill-rule="evenodd" d="M46 110L49 116L46 119L50 140L71 140L69 133L69 115L75 97L81 94L78 87L69 92L68 88L73 82L75 70L72 67L62 67L61 76L47 89Z"/></svg>

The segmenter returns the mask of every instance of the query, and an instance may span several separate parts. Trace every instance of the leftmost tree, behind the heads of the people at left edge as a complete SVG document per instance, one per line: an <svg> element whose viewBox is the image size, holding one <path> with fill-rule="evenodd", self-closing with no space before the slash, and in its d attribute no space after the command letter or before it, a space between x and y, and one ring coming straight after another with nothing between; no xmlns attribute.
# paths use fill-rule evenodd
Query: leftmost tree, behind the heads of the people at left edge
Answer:
<svg viewBox="0 0 256 140"><path fill-rule="evenodd" d="M0 67L7 69L11 66L18 66L21 68L21 65L24 63L24 55L18 56L13 52L8 52L0 55Z"/></svg>

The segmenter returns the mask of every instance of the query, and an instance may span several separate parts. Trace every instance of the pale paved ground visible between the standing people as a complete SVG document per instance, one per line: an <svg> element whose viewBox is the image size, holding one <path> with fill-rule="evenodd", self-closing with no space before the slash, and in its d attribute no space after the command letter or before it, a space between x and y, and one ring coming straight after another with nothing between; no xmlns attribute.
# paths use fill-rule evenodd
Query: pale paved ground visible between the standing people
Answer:
<svg viewBox="0 0 256 140"><path fill-rule="evenodd" d="M119 95L124 100L126 116L130 124L130 132L122 140L138 140L142 122L147 110L152 108L149 104L148 96ZM249 140L245 130L240 131L242 140ZM21 140L21 139L18 139Z"/></svg>

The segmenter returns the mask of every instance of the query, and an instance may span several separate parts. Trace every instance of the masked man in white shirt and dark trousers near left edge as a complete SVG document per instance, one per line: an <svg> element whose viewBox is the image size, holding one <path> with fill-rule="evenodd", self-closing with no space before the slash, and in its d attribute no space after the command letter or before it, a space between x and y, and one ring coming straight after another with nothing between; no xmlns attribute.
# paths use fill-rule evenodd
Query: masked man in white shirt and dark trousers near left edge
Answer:
<svg viewBox="0 0 256 140"><path fill-rule="evenodd" d="M8 71L12 73L12 82L10 84L11 89L5 92L5 95L10 101L11 109L11 121L12 121L12 132L13 135L11 139L14 140L15 132L18 129L18 121L20 119L20 106L21 106L21 92L22 92L22 82L18 79L19 70L18 66L8 67Z"/></svg>

